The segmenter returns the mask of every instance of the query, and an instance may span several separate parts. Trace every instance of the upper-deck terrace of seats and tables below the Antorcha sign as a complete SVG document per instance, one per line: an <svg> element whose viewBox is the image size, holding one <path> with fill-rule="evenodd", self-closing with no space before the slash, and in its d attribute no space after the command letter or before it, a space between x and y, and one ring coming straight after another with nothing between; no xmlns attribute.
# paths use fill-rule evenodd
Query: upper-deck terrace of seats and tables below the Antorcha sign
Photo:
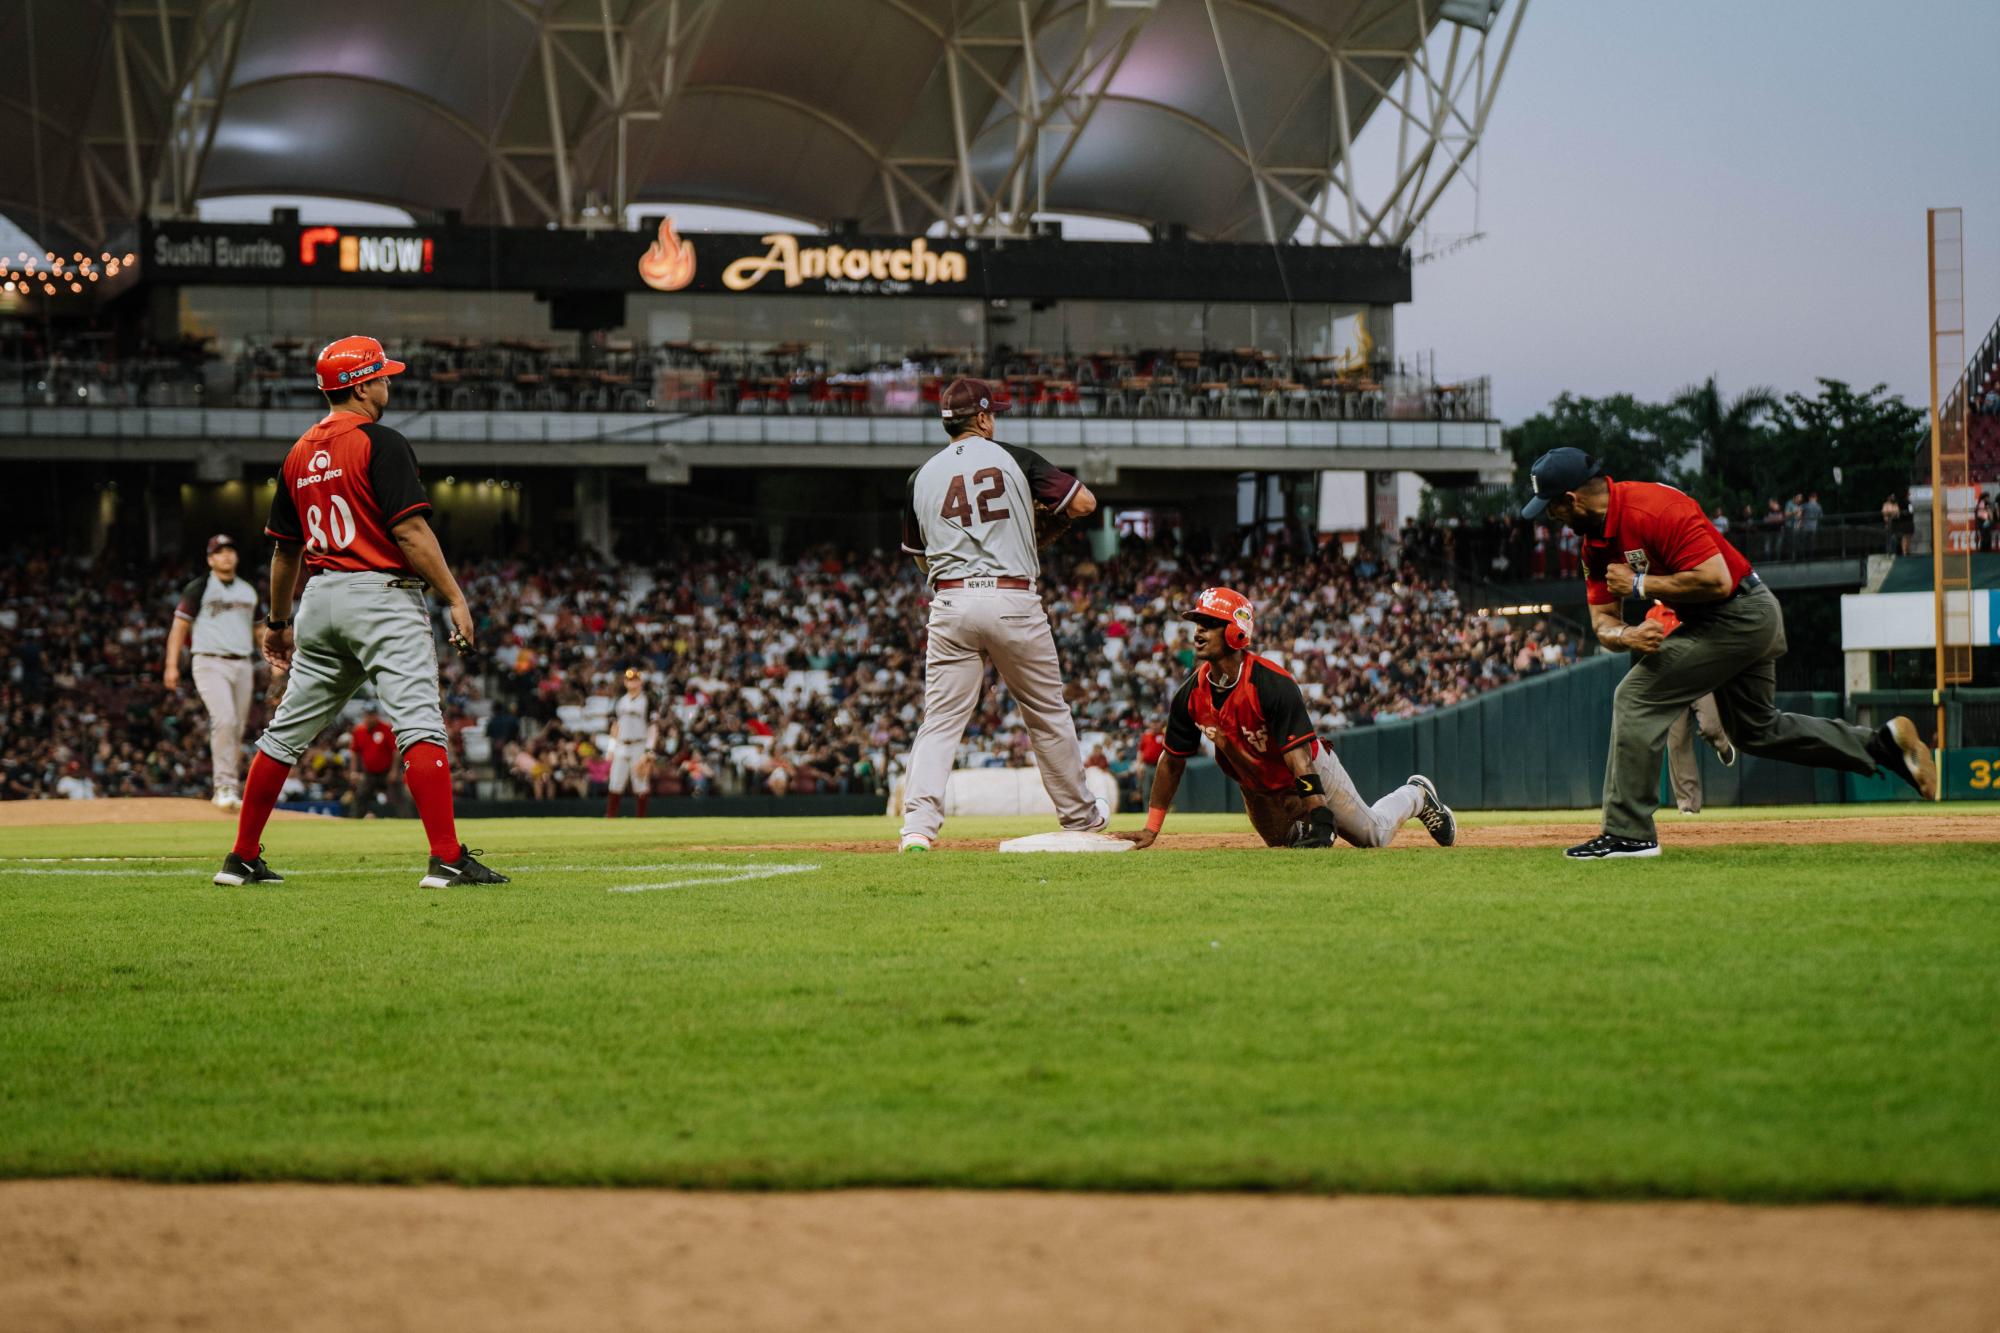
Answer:
<svg viewBox="0 0 2000 1333"><path fill-rule="evenodd" d="M108 336L0 346L0 402L36 406L312 408L308 338L114 354ZM754 412L896 416L934 412L958 374L1004 380L1016 410L1038 416L1216 416L1284 420L1484 420L1484 378L1438 382L1420 364L1350 366L1336 356L1260 348L1056 352L912 348L898 360L830 364L804 342L712 346L592 338L424 338L392 348L410 370L398 408L452 412Z"/></svg>

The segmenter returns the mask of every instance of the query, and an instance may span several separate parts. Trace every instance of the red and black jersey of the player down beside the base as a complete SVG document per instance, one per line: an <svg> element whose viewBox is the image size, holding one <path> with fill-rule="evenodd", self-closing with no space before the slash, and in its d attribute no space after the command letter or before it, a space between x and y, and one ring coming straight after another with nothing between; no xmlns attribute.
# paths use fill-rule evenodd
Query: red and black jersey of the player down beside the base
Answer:
<svg viewBox="0 0 2000 1333"><path fill-rule="evenodd" d="M1320 753L1298 681L1254 652L1244 654L1242 675L1230 685L1218 687L1208 666L1196 666L1174 691L1166 711L1166 753L1188 757L1208 737L1216 763L1240 787L1290 791L1294 777L1284 753L1302 745Z"/></svg>

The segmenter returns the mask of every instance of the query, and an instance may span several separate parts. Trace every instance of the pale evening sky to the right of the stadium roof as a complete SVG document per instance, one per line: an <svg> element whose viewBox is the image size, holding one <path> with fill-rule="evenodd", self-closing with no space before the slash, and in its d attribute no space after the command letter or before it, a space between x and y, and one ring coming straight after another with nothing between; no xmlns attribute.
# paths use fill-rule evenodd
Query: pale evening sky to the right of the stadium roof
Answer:
<svg viewBox="0 0 2000 1333"><path fill-rule="evenodd" d="M1996 0L1534 0L1486 130L1486 240L1418 266L1404 352L1554 394L1716 374L1928 400L1924 208L2000 318Z"/></svg>

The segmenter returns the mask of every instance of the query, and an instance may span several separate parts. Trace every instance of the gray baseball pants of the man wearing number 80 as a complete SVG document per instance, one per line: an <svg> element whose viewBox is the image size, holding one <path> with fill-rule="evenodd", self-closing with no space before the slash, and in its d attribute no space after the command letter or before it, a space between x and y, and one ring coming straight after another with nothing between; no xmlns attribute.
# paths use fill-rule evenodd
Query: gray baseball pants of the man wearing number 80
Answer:
<svg viewBox="0 0 2000 1333"><path fill-rule="evenodd" d="M438 642L422 586L394 574L316 574L292 624L292 675L278 715L256 747L294 765L364 681L404 755L420 741L444 745Z"/></svg>

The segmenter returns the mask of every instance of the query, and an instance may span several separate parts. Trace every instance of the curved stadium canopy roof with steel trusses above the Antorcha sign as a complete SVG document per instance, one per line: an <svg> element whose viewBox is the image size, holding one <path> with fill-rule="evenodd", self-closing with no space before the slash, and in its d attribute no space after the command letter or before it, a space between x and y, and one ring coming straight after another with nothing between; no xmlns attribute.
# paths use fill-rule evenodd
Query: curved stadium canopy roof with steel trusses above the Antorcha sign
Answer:
<svg viewBox="0 0 2000 1333"><path fill-rule="evenodd" d="M722 204L1404 244L1526 0L16 0L0 212L100 242L238 194L468 222ZM1352 140L1392 116L1394 180ZM1384 172L1388 174L1388 172Z"/></svg>

